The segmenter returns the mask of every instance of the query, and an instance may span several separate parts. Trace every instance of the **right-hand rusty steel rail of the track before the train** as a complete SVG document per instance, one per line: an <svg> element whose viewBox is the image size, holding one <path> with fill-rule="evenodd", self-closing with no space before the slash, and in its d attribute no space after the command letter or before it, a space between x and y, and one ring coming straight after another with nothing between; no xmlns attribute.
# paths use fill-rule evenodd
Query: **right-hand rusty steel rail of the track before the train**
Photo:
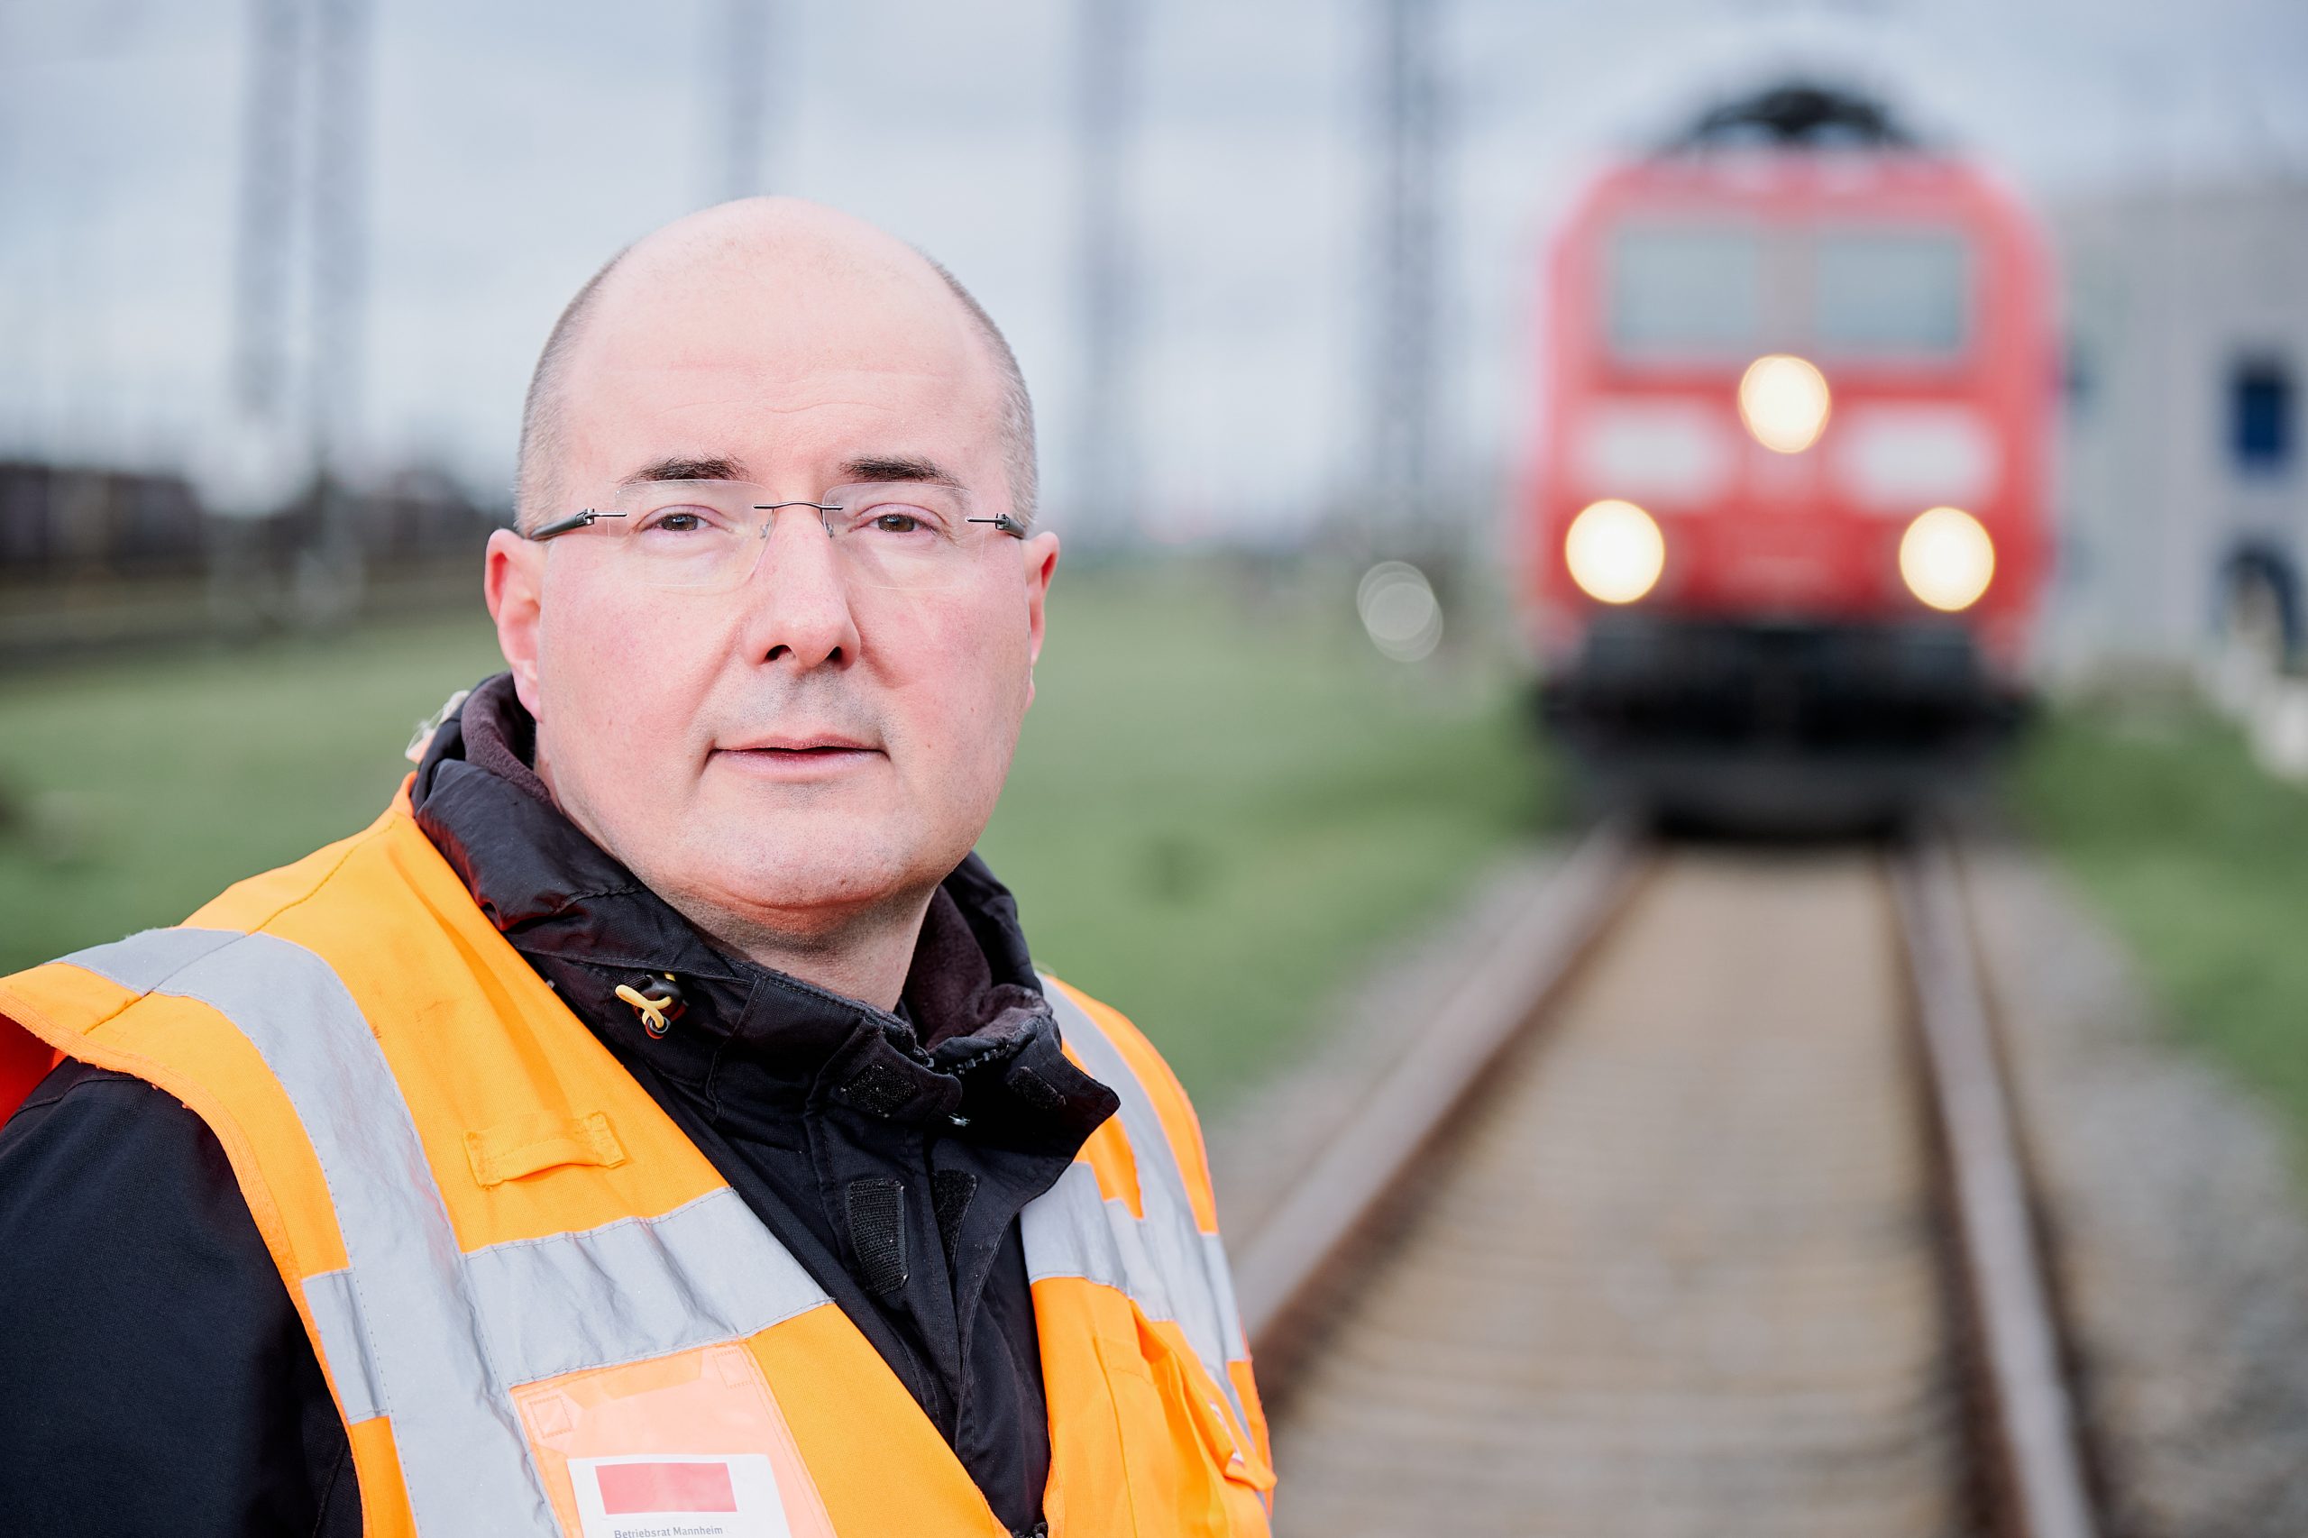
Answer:
<svg viewBox="0 0 2308 1538"><path fill-rule="evenodd" d="M1985 1453L2001 1476L2006 1526L2015 1538L2096 1538L2054 1291L1946 836L1920 834L1893 854L1890 878L1987 1390Z"/></svg>

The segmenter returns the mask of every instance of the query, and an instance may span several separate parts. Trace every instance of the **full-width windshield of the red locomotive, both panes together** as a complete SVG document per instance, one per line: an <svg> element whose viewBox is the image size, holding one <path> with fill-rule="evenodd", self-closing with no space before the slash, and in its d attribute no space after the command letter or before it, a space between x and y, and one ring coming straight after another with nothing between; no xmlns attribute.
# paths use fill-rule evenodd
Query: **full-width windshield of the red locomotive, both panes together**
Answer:
<svg viewBox="0 0 2308 1538"><path fill-rule="evenodd" d="M1971 330L1971 252L1920 226L1629 224L1606 326L1632 360L1948 358Z"/></svg>

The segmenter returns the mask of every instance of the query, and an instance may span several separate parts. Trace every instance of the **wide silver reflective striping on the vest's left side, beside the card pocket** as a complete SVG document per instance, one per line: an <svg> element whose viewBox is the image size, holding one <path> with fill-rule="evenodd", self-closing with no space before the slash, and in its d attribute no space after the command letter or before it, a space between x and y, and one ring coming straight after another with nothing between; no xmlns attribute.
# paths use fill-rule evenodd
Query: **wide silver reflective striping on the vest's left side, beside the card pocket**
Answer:
<svg viewBox="0 0 2308 1538"><path fill-rule="evenodd" d="M462 1254L392 1067L316 954L157 928L67 965L208 1005L263 1055L321 1162L346 1270L305 1282L346 1423L392 1416L418 1531L559 1533L510 1388L741 1342L829 1302L729 1187Z"/></svg>

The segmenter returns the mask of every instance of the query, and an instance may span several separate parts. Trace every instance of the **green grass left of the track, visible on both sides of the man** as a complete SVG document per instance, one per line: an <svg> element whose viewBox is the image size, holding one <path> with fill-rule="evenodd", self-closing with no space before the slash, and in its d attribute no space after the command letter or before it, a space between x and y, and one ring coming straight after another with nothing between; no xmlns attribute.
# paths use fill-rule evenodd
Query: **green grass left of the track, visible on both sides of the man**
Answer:
<svg viewBox="0 0 2308 1538"><path fill-rule="evenodd" d="M171 924L365 827L487 624L0 681L0 972ZM1066 573L983 850L1041 965L1207 1102L1551 804L1503 674L1406 672L1343 600L1223 570Z"/></svg>

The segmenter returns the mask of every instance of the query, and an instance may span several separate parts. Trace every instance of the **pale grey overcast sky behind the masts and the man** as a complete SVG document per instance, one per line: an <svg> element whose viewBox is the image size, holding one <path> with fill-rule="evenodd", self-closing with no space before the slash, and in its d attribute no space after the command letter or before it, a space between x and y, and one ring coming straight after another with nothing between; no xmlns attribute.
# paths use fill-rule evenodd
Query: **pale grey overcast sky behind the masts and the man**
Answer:
<svg viewBox="0 0 2308 1538"><path fill-rule="evenodd" d="M1073 0L780 0L764 164L921 242L1011 333L1071 501ZM1449 448L1509 462L1546 210L1719 83L1872 76L2038 194L2308 176L2296 0L1442 0ZM1288 524L1359 466L1371 7L1147 0L1147 501ZM362 443L503 487L522 383L612 249L715 192L715 0L376 0ZM240 483L226 390L242 7L0 18L0 450Z"/></svg>

